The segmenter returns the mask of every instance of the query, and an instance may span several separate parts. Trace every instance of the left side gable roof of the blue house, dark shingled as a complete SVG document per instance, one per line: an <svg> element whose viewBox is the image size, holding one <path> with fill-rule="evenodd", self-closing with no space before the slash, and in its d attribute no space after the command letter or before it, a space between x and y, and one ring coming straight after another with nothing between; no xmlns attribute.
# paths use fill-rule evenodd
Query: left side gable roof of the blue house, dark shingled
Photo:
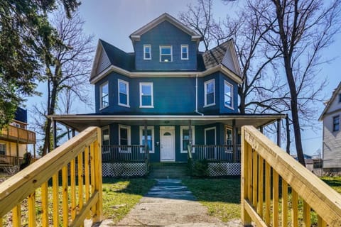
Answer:
<svg viewBox="0 0 341 227"><path fill-rule="evenodd" d="M123 70L134 71L135 69L134 53L124 52L123 50L114 47L114 45L111 45L105 42L104 40L99 39L96 55L94 57L94 64L92 66L92 71L90 74L90 81L94 77L96 77L96 74L98 74L97 67L99 67L98 63L101 57L101 53L103 51L106 57L109 59L110 65L115 65Z"/></svg>

